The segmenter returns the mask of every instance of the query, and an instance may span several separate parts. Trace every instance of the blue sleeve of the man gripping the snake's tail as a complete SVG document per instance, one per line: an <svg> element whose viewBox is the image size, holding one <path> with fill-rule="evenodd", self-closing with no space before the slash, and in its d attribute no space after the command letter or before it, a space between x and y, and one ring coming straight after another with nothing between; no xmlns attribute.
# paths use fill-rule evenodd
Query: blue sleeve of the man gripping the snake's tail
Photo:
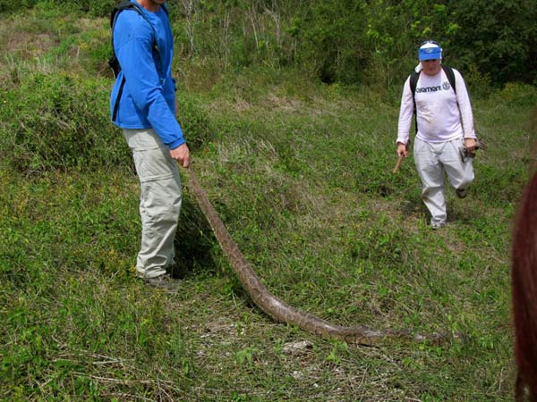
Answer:
<svg viewBox="0 0 537 402"><path fill-rule="evenodd" d="M129 94L162 142L175 149L184 143L175 113L166 103L163 83L153 59L153 32L138 15L121 13L115 23L115 54L121 64Z"/></svg>

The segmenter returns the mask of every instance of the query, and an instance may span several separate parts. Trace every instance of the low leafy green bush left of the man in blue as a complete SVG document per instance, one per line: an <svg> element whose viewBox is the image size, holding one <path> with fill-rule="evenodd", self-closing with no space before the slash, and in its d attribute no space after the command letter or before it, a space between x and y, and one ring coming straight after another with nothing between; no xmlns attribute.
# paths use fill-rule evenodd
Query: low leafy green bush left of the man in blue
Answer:
<svg viewBox="0 0 537 402"><path fill-rule="evenodd" d="M3 159L21 172L130 166L108 116L109 80L34 73L0 105Z"/></svg>

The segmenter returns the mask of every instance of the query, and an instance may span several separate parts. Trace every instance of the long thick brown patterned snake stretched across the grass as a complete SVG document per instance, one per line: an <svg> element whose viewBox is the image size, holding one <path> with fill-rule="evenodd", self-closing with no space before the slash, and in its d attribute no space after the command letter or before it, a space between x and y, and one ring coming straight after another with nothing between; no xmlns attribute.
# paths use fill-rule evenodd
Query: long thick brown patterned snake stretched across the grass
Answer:
<svg viewBox="0 0 537 402"><path fill-rule="evenodd" d="M190 188L194 197L200 205L201 212L205 215L212 230L215 233L218 243L227 256L234 273L241 281L243 288L246 289L256 306L260 307L266 314L272 317L276 322L286 322L296 325L303 331L308 331L314 335L324 336L330 339L340 339L347 343L356 343L361 345L376 345L380 342L393 339L413 339L417 341L430 340L438 343L445 336L440 334L419 335L410 330L374 330L363 325L345 327L333 325L316 315L303 312L286 303L271 294L268 289L261 283L255 272L251 269L250 264L244 259L241 250L231 238L226 230L226 226L218 217L217 211L210 203L207 193L201 188L192 166L190 172Z"/></svg>

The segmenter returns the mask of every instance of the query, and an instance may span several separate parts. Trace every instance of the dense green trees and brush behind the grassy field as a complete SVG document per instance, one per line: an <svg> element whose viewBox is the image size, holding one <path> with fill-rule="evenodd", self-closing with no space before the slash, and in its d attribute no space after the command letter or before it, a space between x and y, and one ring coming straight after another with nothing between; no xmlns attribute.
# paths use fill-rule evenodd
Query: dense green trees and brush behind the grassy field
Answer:
<svg viewBox="0 0 537 402"><path fill-rule="evenodd" d="M532 0L174 0L182 59L226 71L293 65L323 82L391 85L425 38L478 85L537 80ZM40 5L107 17L114 0L0 0L0 12ZM181 27L181 29L177 29Z"/></svg>

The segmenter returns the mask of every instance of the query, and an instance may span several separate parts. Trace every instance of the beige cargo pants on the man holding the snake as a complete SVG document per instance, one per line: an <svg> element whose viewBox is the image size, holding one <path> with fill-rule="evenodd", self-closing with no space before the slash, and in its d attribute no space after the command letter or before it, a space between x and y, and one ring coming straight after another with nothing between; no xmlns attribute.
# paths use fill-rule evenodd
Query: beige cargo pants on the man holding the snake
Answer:
<svg viewBox="0 0 537 402"><path fill-rule="evenodd" d="M154 278L174 263L175 230L181 211L182 188L177 163L151 129L126 130L140 179L141 247L136 271Z"/></svg>

